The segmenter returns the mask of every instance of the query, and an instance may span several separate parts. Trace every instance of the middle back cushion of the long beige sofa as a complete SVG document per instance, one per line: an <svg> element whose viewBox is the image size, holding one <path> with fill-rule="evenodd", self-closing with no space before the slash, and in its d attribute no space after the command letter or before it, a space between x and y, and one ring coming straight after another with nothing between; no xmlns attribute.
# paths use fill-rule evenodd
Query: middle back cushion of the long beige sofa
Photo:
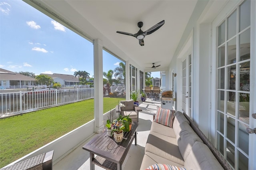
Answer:
<svg viewBox="0 0 256 170"><path fill-rule="evenodd" d="M178 138L178 146L180 149L180 154L186 161L188 154L191 151L193 144L198 141L203 143L199 136L194 132L194 130L187 123L180 124L180 138Z"/></svg>

